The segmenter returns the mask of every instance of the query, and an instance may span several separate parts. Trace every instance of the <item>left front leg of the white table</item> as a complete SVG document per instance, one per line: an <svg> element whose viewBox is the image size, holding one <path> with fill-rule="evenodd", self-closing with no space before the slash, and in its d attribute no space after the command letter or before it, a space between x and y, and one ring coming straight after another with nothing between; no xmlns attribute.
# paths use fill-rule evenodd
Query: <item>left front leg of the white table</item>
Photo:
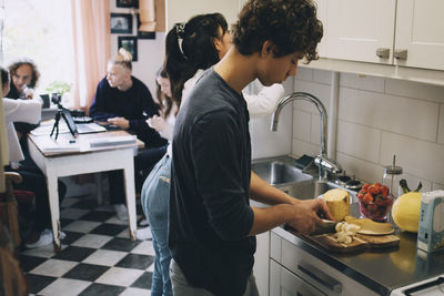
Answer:
<svg viewBox="0 0 444 296"><path fill-rule="evenodd" d="M47 184L49 195L49 208L51 212L52 235L54 237L53 245L57 253L61 251L59 190L57 174L50 167L47 167Z"/></svg>

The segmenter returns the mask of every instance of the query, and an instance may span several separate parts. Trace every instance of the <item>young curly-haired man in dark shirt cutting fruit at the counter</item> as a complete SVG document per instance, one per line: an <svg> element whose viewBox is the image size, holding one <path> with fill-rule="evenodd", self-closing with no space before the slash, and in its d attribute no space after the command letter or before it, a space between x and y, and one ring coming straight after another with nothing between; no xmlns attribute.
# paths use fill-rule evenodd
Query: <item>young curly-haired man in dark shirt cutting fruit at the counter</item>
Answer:
<svg viewBox="0 0 444 296"><path fill-rule="evenodd" d="M317 58L322 23L311 0L250 0L234 28L234 47L205 71L179 112L173 135L169 246L174 295L259 295L252 268L255 234L287 223L310 233L322 200L301 201L251 172L251 81L295 75ZM270 204L250 206L250 198Z"/></svg>

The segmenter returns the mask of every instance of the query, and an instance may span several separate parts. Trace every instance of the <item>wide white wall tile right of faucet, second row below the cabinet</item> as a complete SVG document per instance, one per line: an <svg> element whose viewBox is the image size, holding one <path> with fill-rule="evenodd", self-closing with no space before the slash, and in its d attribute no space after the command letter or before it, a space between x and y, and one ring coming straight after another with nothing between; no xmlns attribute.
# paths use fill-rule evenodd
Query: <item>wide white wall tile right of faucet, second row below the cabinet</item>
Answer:
<svg viewBox="0 0 444 296"><path fill-rule="evenodd" d="M375 129L436 141L436 103L341 88L339 118Z"/></svg>

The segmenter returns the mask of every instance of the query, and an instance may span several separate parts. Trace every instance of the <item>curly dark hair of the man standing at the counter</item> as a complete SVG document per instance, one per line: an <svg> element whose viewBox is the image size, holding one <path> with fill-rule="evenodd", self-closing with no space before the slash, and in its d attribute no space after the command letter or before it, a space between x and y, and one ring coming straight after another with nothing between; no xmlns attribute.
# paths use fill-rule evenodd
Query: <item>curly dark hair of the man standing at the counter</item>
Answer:
<svg viewBox="0 0 444 296"><path fill-rule="evenodd" d="M319 59L323 28L311 0L250 0L233 29L233 43L244 55L260 52L269 40L274 57L301 52L309 62Z"/></svg>

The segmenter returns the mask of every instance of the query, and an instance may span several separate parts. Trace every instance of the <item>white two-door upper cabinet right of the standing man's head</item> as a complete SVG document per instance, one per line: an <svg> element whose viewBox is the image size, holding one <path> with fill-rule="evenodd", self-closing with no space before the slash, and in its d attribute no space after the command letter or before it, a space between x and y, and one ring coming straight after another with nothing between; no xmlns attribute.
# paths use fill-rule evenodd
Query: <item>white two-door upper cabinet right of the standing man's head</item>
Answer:
<svg viewBox="0 0 444 296"><path fill-rule="evenodd" d="M321 57L444 70L444 1L319 0ZM324 19L323 19L324 18Z"/></svg>

